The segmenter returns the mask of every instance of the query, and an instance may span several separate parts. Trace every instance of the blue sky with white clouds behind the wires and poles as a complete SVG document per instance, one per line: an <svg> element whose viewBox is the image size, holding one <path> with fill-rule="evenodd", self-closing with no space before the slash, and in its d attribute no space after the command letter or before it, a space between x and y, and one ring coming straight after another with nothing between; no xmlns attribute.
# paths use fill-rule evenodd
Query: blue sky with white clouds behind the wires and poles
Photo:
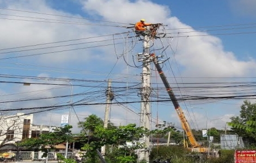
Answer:
<svg viewBox="0 0 256 163"><path fill-rule="evenodd" d="M135 83L141 82L141 68L127 66L126 62L134 65L132 56L136 57L137 53L142 52L142 42L136 41L131 28L120 27L130 26L129 23L135 23L141 18L145 18L147 22L168 25L166 33L169 38L163 38L162 45L167 47L164 52L165 58L170 59L168 64L163 65L163 70L169 82L172 83L171 86L175 87L174 93L178 97L228 96L245 91L243 89L246 89L244 94L248 95L253 93L253 87L220 89L213 88L212 86L216 86L214 84L204 83L223 82L228 85L230 82L254 82L255 6L254 1L245 0L0 1L0 8L2 8L0 9L1 74L23 77L4 76L0 80L64 84L59 86L32 84L25 87L22 84L1 83L2 102L68 96L28 102L8 102L0 106L2 109L12 109L67 104L70 101L71 86L66 81L70 79L83 80L83 82L70 80L73 85L72 94L84 93L84 95L73 96L72 101L86 104L105 102L105 89L109 78L113 81L113 87L132 87ZM58 23L49 23L57 20ZM99 26L99 24L105 26ZM126 39L126 32L129 32L129 36L133 39ZM126 41L127 44L125 44ZM162 45L160 40L154 42L155 49L161 48ZM33 50L27 51L28 49ZM160 52L156 51L156 53ZM21 57L24 55L28 56ZM135 64L139 65L136 59ZM28 79L25 76L43 79ZM161 87L161 80L156 78L155 71L152 71L152 76L153 83L158 83L157 85ZM53 80L53 78L63 78L63 80ZM211 89L205 91L200 88L176 89L177 86L188 86L184 83L203 83L198 86L209 85ZM157 85L153 84L153 86ZM163 89L160 90L159 95L167 98L167 93ZM129 96L125 95L125 89L117 89L116 93L115 102L140 100L137 96L138 91L132 93L127 91ZM221 93L224 95L220 95ZM228 122L231 116L239 114L242 101L243 99L205 99L181 101L180 105L192 128L205 128L205 115L207 115L208 126L223 129L225 122ZM253 99L252 102L254 102ZM135 112L139 112L139 107L139 103L124 106L115 104L112 106L111 121L116 124L137 123L139 116ZM78 122L78 118L82 121L90 114L103 117L105 105L74 106L74 109L77 115L72 111L71 124L73 125ZM151 110L153 121L158 112L160 121L172 122L180 127L178 116L171 103L153 103ZM68 107L52 111L53 124L58 125L60 116L67 114L68 111ZM35 116L35 123L47 124L51 114L48 111ZM221 119L217 121L218 118Z"/></svg>

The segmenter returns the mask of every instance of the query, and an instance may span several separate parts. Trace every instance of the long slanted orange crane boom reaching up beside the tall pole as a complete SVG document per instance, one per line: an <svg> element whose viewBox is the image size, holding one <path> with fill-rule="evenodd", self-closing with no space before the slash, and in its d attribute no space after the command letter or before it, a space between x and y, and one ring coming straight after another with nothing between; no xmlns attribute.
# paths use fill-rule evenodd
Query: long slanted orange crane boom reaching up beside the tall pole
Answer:
<svg viewBox="0 0 256 163"><path fill-rule="evenodd" d="M191 148L190 148L191 151L192 152L200 152L200 153L208 152L208 148L202 147L202 145L200 145L197 142L197 140L194 138L191 127L190 127L190 125L188 124L188 122L186 120L184 112L182 111L182 109L181 109L181 107L178 103L178 100L176 99L176 97L175 97L175 95L172 91L172 88L170 87L170 85L168 83L168 80L167 80L166 76L164 75L164 73L162 71L159 60L157 59L158 57L154 53L150 54L150 57L151 57L151 59L153 60L153 62L155 64L157 72L159 72L159 76L160 76L164 86L166 87L166 90L168 92L170 100L172 101L172 103L174 105L174 108L175 108L175 110L176 110L176 112L179 116L180 122L182 124L182 128L185 130L186 136L188 137L188 140L191 144Z"/></svg>

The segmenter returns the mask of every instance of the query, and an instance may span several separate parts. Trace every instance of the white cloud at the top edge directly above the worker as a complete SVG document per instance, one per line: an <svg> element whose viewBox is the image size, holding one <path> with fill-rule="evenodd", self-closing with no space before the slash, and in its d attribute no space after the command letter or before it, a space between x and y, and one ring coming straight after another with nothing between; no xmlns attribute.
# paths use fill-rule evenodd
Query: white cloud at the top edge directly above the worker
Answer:
<svg viewBox="0 0 256 163"><path fill-rule="evenodd" d="M135 23L141 18L148 22L160 23L170 15L168 7L150 1L139 0L86 0L82 1L84 10L93 16L102 16L114 22ZM149 11L154 9L154 12Z"/></svg>

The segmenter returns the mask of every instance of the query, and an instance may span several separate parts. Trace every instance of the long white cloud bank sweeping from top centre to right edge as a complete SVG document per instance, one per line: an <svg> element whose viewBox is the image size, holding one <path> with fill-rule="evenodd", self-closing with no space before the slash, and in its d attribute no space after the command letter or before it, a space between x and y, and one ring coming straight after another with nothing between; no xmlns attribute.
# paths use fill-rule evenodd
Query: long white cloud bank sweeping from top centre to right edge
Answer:
<svg viewBox="0 0 256 163"><path fill-rule="evenodd" d="M180 29L175 30L175 32L180 32L179 36L186 36L182 32L187 31L191 32L188 35L207 35L205 32L197 32L187 24L180 22L177 17L170 17L168 8L150 1L87 0L82 2L87 12L93 15L97 14L106 20L134 22L144 17L149 22L167 24L168 29ZM154 8L154 12L148 12L149 8ZM204 77L211 74L212 77L243 77L256 69L254 60L240 61L233 52L225 51L221 40L216 36L174 37L172 45L176 46L177 42L176 61L186 67L182 76Z"/></svg>

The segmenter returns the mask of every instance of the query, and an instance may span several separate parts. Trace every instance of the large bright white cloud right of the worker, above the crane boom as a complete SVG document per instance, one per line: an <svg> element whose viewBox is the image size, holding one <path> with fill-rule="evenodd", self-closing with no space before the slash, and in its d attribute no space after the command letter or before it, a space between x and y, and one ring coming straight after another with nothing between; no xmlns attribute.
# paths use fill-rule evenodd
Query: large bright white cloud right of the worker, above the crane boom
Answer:
<svg viewBox="0 0 256 163"><path fill-rule="evenodd" d="M181 37L172 43L176 45L178 40L175 59L181 66L186 67L183 76L243 77L255 70L256 63L254 60L238 60L233 52L224 51L222 42L217 37L195 36L207 35L207 33L197 32L190 26L181 23L177 18L169 18L168 22L172 28L188 28L178 30L180 34L177 35L188 35L188 37ZM187 31L191 33L182 34L182 32Z"/></svg>

